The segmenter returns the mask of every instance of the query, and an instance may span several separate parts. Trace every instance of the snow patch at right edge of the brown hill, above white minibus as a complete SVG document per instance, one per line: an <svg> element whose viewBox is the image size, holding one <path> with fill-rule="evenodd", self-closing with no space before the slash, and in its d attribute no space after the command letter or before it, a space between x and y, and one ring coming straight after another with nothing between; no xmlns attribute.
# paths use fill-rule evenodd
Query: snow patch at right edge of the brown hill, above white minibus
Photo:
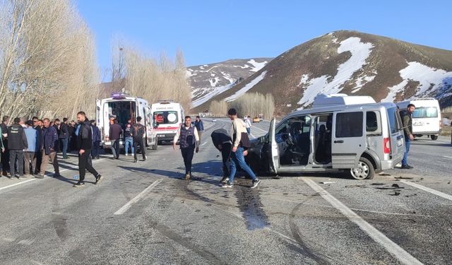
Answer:
<svg viewBox="0 0 452 265"><path fill-rule="evenodd" d="M381 100L382 102L393 102L396 95L404 90L409 81L419 82L416 94L414 95L416 98L427 96L444 86L452 85L449 83L452 81L452 72L434 69L417 61L408 62L408 66L405 67L405 69L400 70L399 73L400 77L403 78L403 81L396 86L388 88L388 95ZM444 96L444 94L441 96Z"/></svg>

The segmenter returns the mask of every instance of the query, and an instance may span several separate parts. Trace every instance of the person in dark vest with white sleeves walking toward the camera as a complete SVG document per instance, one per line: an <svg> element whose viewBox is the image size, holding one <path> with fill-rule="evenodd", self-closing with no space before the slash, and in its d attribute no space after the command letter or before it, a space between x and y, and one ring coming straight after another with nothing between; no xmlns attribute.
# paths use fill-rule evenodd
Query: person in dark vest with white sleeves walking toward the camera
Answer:
<svg viewBox="0 0 452 265"><path fill-rule="evenodd" d="M191 177L191 161L193 160L194 152L199 151L199 136L196 126L191 125L191 117L185 117L185 123L179 127L177 134L174 136L172 148L176 150L177 140L180 138L179 147L181 149L182 158L184 158L185 165L185 179L189 180Z"/></svg>

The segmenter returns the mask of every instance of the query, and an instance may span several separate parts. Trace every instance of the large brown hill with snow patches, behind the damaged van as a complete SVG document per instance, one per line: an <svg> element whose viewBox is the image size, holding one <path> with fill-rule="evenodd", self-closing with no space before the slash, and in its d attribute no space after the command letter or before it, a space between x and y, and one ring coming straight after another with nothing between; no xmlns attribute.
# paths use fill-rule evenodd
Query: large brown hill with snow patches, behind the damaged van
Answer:
<svg viewBox="0 0 452 265"><path fill-rule="evenodd" d="M452 105L452 51L388 37L337 31L294 47L209 100L272 93L276 114L309 107L319 93L371 95L376 101L434 97ZM208 100L196 105L208 107ZM195 106L195 107L196 107Z"/></svg>

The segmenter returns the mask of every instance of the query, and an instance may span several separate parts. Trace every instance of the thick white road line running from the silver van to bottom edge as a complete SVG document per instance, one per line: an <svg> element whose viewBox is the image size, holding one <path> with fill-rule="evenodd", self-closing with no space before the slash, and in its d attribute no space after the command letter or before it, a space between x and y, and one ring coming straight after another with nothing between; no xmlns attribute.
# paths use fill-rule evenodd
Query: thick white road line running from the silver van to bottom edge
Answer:
<svg viewBox="0 0 452 265"><path fill-rule="evenodd" d="M338 209L345 217L351 220L353 223L357 224L358 227L367 233L375 242L379 243L384 247L389 253L393 255L394 258L398 259L403 264L422 264L415 257L412 257L410 253L406 252L405 249L397 245L395 242L390 240L382 232L374 228L370 223L367 223L363 218L358 216L354 211L350 210L347 206L341 203L338 199L335 199L331 194L326 192L325 189L320 187L316 182L312 181L307 177L302 177L303 181L308 184L311 189L318 192L323 199L328 201L334 208Z"/></svg>

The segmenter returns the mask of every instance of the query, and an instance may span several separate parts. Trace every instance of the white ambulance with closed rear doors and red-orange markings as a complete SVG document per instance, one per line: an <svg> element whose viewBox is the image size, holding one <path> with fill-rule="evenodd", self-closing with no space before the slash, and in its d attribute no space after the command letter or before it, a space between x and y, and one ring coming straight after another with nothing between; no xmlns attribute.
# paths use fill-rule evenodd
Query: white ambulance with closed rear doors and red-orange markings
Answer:
<svg viewBox="0 0 452 265"><path fill-rule="evenodd" d="M182 105L171 100L159 100L151 105L150 110L156 124L157 142L172 141L184 122Z"/></svg>

